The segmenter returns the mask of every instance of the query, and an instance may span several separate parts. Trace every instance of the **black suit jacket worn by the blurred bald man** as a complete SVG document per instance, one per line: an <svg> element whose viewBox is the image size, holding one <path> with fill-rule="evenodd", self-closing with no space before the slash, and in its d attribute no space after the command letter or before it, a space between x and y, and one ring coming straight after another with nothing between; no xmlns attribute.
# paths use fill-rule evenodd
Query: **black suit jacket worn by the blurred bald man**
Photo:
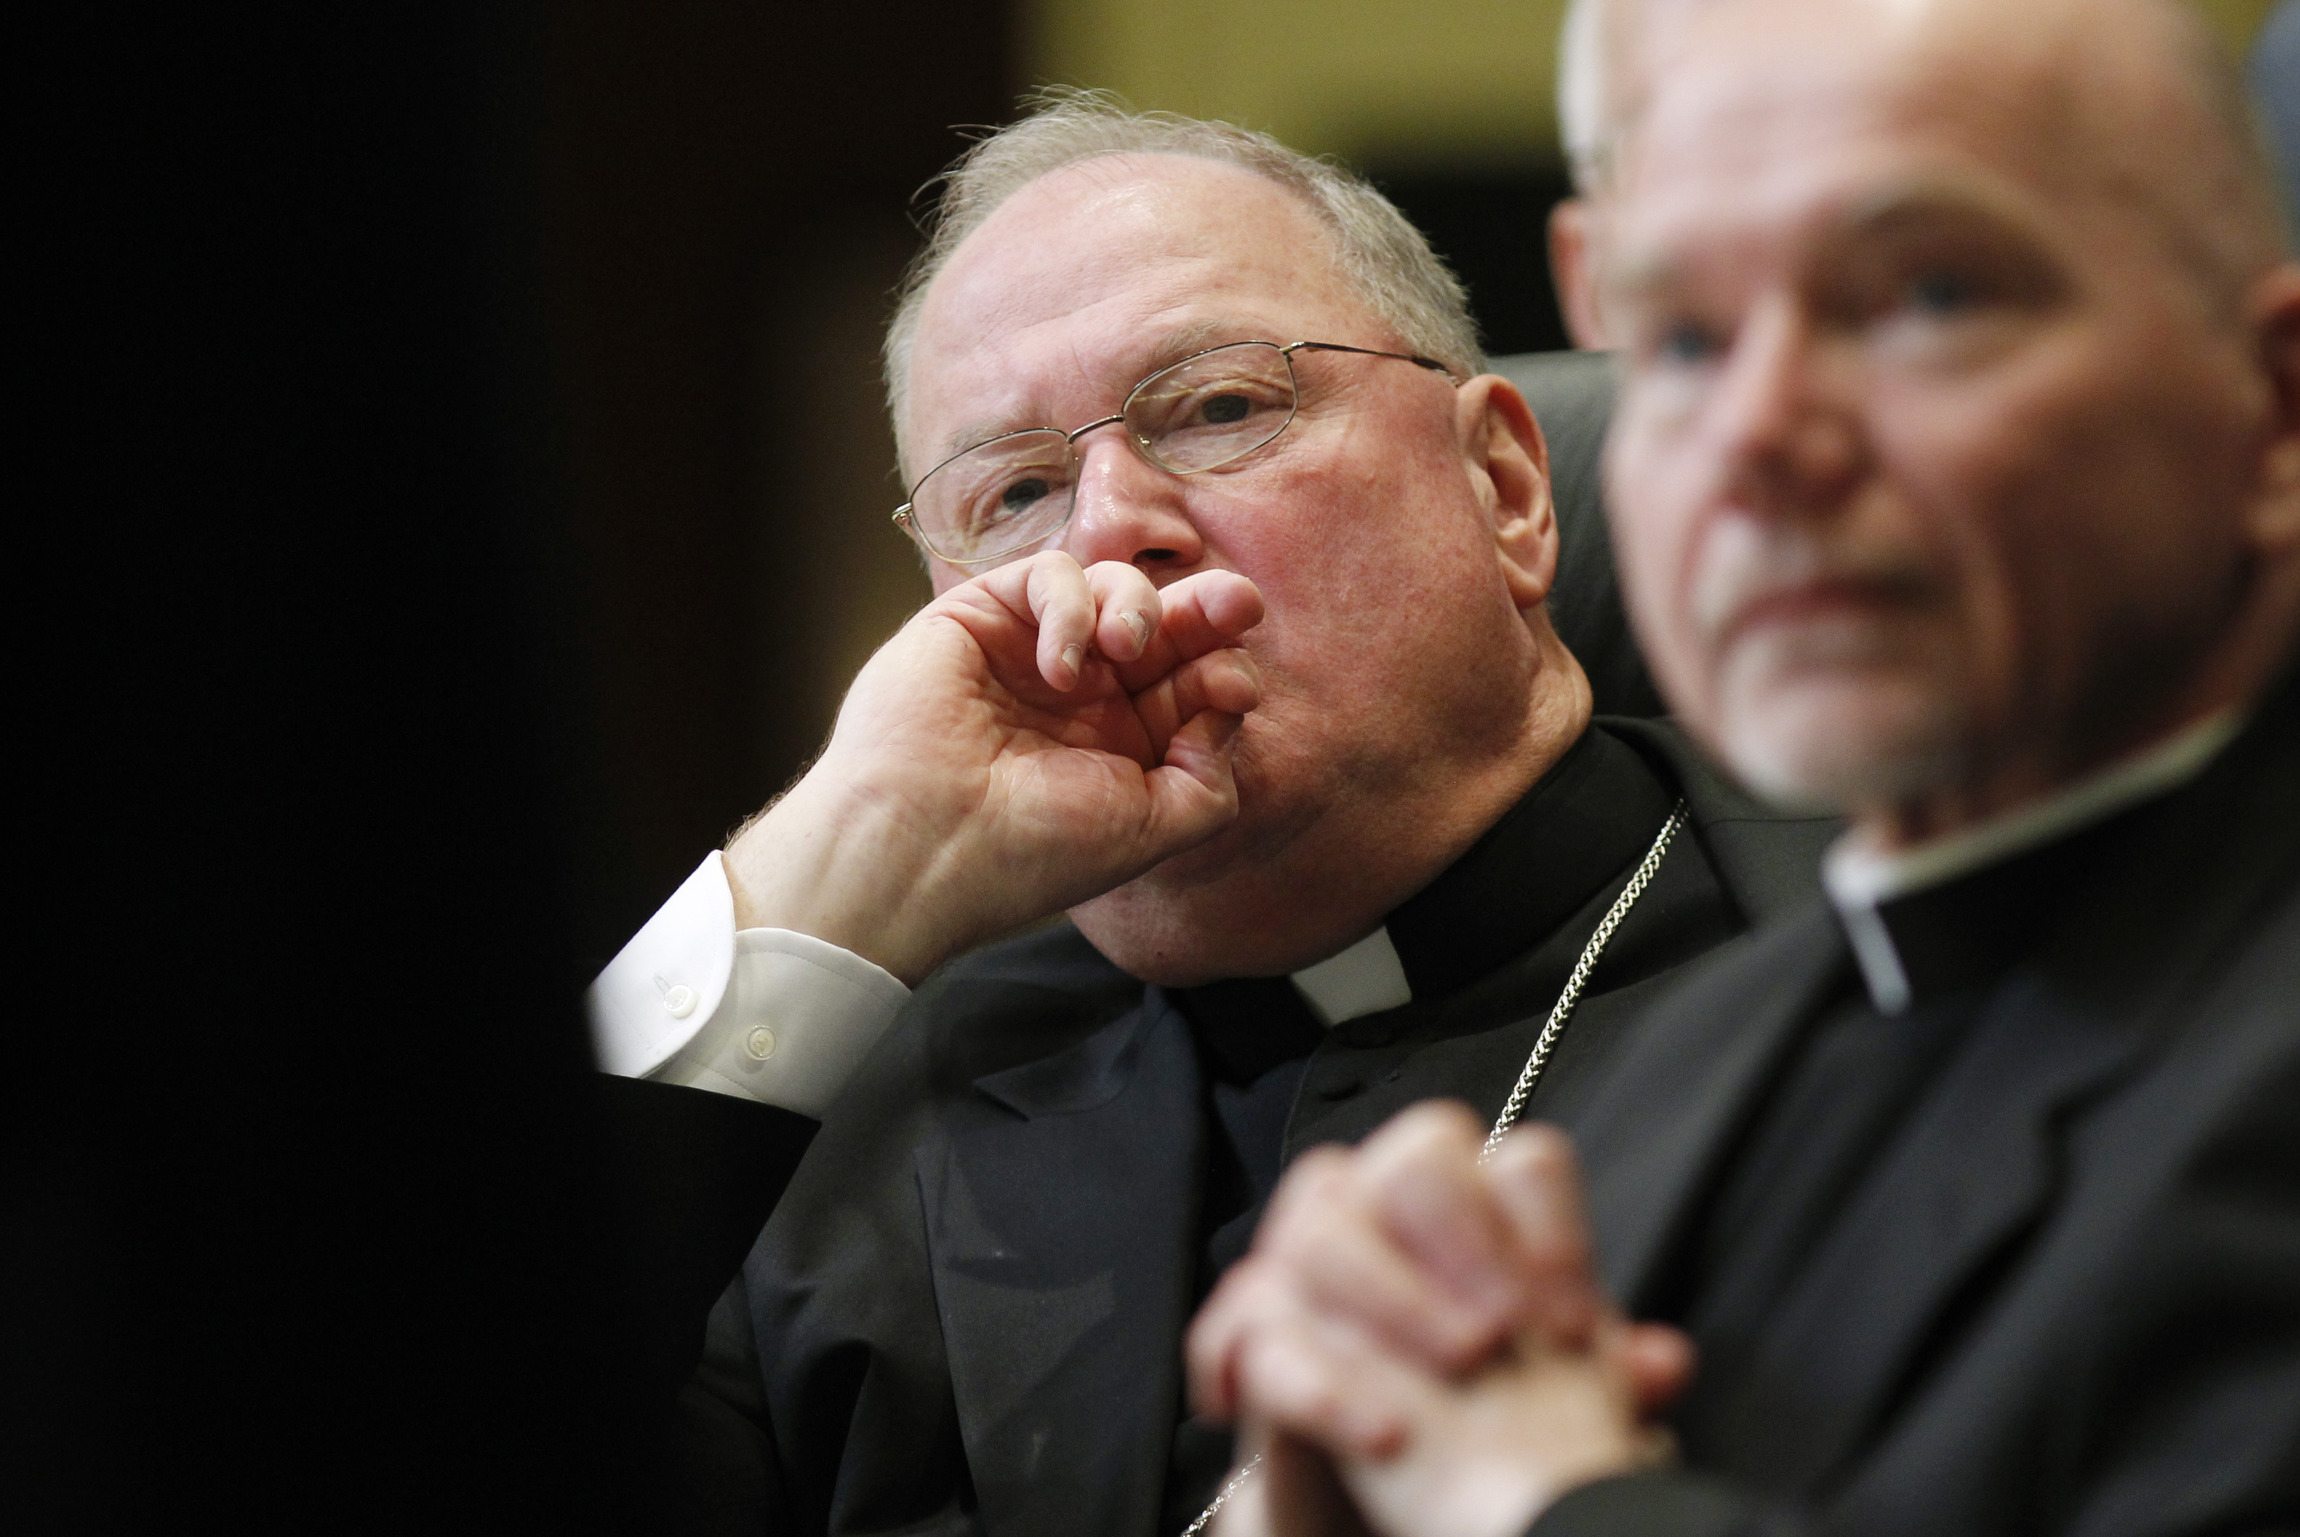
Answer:
<svg viewBox="0 0 2300 1537"><path fill-rule="evenodd" d="M1840 1275L1780 1307L1805 1410L1732 1424L1727 1466L1569 1496L1539 1537L2300 1530L2300 693L2079 838L2084 879L2045 890L1815 1249ZM1684 1305L1704 1201L1849 976L1815 902L1566 1109L1633 1312Z"/></svg>

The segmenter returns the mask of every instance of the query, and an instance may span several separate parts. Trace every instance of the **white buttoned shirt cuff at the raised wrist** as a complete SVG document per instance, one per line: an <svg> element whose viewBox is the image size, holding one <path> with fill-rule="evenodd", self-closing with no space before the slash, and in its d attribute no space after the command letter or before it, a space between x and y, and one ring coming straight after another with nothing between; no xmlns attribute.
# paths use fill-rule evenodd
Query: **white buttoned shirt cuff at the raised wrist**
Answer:
<svg viewBox="0 0 2300 1537"><path fill-rule="evenodd" d="M908 996L812 934L736 932L713 851L591 982L591 1040L605 1072L821 1118Z"/></svg>

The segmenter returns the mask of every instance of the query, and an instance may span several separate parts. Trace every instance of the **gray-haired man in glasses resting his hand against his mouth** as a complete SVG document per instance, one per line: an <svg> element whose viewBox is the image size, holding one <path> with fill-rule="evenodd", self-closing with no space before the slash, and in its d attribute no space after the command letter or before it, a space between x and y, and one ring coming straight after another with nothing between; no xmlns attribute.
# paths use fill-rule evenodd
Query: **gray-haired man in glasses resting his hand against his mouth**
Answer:
<svg viewBox="0 0 2300 1537"><path fill-rule="evenodd" d="M713 1519L1182 1530L1182 1328L1295 1150L1555 1109L1810 886L1826 821L1592 725L1481 361L1265 138L1063 99L952 173L888 338L938 596L593 992L646 1093L821 1123L688 1392Z"/></svg>

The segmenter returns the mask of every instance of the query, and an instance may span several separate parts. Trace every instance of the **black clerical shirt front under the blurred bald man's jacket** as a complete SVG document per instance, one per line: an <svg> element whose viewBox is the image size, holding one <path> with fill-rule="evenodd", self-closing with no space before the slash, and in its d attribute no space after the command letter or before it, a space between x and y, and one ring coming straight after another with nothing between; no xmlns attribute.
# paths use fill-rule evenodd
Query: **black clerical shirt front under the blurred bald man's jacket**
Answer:
<svg viewBox="0 0 2300 1537"><path fill-rule="evenodd" d="M1934 1272L1925 1252L1950 1224L1950 1171L1996 1153L2017 1167L2019 1148L2001 1144L2026 1137L2022 1107L2130 1045L2065 1026L2054 980L2024 959L2068 900L2116 867L2148 815L2125 812L1877 907L1907 1001L1893 999L1888 1015L1858 969L1840 969L1663 1291L1661 1314L1700 1353L1674 1413L1690 1463L1812 1498L1918 1387L1934 1341L1893 1351L1881 1318L1904 1309L1911 1277ZM1999 1233L1964 1282L1971 1295L2026 1238ZM1863 1309L1879 1314L1877 1330L1863 1330ZM1939 1318L1957 1328L1957 1298Z"/></svg>

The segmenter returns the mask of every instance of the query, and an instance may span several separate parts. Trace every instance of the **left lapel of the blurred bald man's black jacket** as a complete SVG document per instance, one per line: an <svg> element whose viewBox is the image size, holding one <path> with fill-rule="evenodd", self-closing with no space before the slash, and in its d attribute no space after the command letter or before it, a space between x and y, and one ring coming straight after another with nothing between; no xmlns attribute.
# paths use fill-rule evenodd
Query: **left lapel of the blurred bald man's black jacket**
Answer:
<svg viewBox="0 0 2300 1537"><path fill-rule="evenodd" d="M1654 1010L1566 1121L1589 1178L1598 1268L1631 1314L1651 1312L1649 1293L1718 1160L1847 966L1819 902L1720 950L1700 982Z"/></svg>

